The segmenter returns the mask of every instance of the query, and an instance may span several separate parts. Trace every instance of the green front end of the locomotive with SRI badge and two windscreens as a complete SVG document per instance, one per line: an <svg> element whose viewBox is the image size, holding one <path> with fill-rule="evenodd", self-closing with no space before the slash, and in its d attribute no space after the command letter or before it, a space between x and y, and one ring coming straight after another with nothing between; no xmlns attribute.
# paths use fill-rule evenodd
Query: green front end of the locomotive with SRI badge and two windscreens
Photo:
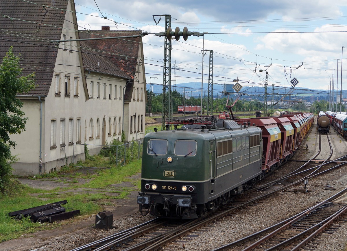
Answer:
<svg viewBox="0 0 347 251"><path fill-rule="evenodd" d="M207 138L206 138L207 137ZM140 211L170 218L197 218L210 187L209 133L147 133L143 143ZM212 146L213 147L213 146ZM213 151L211 151L213 152Z"/></svg>

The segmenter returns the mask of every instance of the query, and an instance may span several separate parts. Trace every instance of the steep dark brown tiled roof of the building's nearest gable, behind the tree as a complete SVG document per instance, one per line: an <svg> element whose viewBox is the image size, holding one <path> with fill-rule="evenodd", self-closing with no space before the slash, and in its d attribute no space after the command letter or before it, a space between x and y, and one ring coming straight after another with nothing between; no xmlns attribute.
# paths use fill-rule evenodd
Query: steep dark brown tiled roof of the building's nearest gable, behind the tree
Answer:
<svg viewBox="0 0 347 251"><path fill-rule="evenodd" d="M38 86L28 95L47 95L58 52L55 44L49 41L60 39L68 1L32 2L34 3L20 0L1 1L0 58L13 46L15 55L22 54L20 66L23 74L35 72L36 75L35 84Z"/></svg>

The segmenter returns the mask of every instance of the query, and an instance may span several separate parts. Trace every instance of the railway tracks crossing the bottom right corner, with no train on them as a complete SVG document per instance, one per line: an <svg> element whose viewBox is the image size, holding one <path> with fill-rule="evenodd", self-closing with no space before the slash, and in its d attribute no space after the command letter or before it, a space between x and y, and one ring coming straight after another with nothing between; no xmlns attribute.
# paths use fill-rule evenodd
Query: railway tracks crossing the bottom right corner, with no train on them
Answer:
<svg viewBox="0 0 347 251"><path fill-rule="evenodd" d="M346 221L346 212L347 188L293 217L213 251L299 250L320 233L336 230L329 227L340 218Z"/></svg>

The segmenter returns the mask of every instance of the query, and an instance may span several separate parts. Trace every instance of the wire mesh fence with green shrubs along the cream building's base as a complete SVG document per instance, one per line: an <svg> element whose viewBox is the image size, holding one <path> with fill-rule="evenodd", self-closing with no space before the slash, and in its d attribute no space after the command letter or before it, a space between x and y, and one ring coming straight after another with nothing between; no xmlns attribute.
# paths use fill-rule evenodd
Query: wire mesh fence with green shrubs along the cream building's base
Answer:
<svg viewBox="0 0 347 251"><path fill-rule="evenodd" d="M108 157L108 163L122 166L142 158L142 148L143 139L120 145L75 144L73 162L84 161L89 156L102 155Z"/></svg>

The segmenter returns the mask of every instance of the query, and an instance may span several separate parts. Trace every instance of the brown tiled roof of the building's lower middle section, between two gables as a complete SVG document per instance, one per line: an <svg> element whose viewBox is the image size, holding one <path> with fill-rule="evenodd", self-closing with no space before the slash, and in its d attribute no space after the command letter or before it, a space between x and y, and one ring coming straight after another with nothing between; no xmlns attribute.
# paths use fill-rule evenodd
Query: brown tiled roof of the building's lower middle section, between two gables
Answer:
<svg viewBox="0 0 347 251"><path fill-rule="evenodd" d="M100 55L100 52L95 51L89 42L81 41L81 51L84 70L119 76L125 79L131 78L124 71L120 70L120 68L110 60L110 57L105 57Z"/></svg>

